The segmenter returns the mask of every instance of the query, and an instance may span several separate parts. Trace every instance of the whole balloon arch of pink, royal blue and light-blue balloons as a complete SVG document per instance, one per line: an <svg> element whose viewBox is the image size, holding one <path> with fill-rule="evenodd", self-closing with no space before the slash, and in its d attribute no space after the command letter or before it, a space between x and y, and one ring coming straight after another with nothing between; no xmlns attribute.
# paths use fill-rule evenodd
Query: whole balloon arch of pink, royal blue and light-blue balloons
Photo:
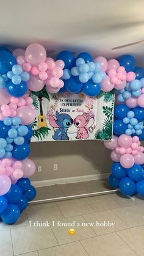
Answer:
<svg viewBox="0 0 144 256"><path fill-rule="evenodd" d="M117 106L113 139L104 145L112 150L109 183L125 195L144 196L144 69L131 55L106 60L89 53L74 57L61 51L56 60L46 49L32 43L24 49L0 46L0 216L13 224L36 196L29 177L35 172L28 158L35 108L30 90L46 86L49 93L68 90L96 97L115 89Z"/></svg>

